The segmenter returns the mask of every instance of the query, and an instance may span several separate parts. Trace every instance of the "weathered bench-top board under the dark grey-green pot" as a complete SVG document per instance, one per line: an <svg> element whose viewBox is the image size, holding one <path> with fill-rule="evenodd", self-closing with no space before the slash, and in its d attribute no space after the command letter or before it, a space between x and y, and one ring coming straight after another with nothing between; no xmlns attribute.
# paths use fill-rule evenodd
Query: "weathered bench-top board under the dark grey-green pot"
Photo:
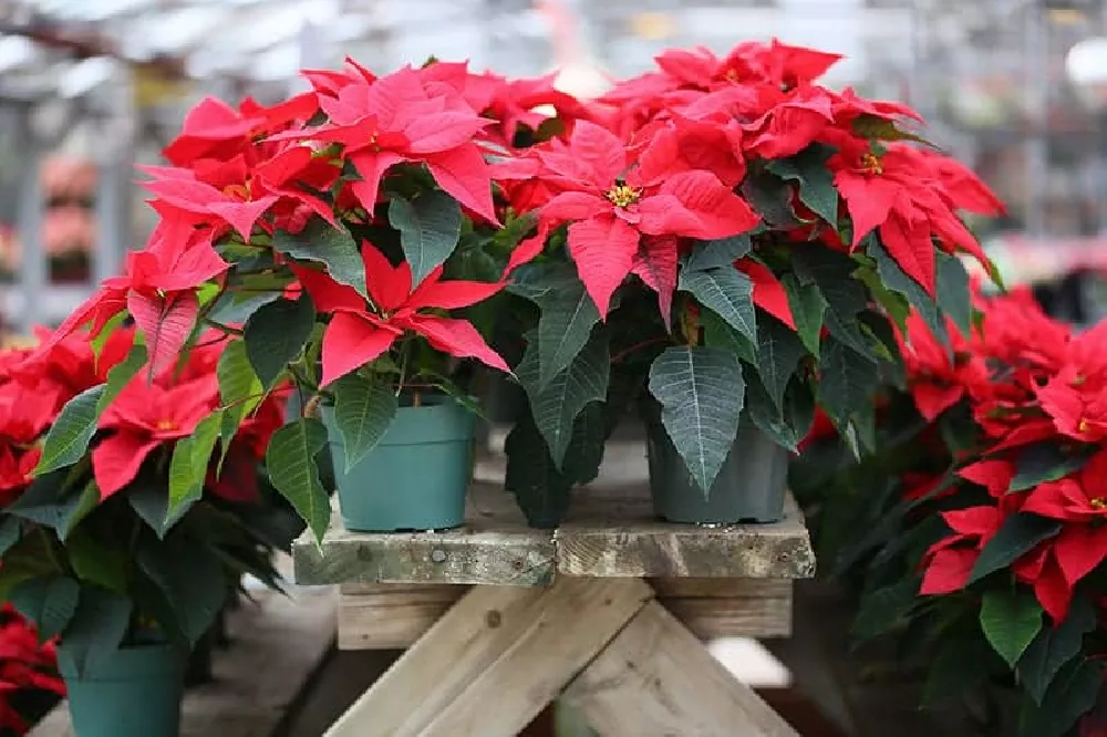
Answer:
<svg viewBox="0 0 1107 737"><path fill-rule="evenodd" d="M557 570L597 578L805 579L815 552L789 496L770 525L706 528L654 519L641 486L577 492L557 531Z"/></svg>

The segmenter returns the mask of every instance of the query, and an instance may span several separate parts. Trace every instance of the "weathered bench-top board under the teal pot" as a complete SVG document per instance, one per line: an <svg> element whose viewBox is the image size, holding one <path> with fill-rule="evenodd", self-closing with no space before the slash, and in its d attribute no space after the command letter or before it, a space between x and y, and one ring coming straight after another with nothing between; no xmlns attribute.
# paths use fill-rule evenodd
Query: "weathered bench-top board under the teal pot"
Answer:
<svg viewBox="0 0 1107 737"><path fill-rule="evenodd" d="M322 548L307 533L293 543L296 581L518 587L552 581L552 533L528 528L503 485L474 486L466 522L442 532L352 532L335 513Z"/></svg>

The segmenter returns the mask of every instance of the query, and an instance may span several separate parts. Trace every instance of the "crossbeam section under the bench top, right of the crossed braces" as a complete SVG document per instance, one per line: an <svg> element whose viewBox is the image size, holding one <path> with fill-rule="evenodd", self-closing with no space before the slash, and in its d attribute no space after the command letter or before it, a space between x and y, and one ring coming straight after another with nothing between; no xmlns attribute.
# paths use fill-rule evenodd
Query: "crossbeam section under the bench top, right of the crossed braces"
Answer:
<svg viewBox="0 0 1107 737"><path fill-rule="evenodd" d="M653 579L650 583L658 601L701 640L792 634L789 580Z"/></svg>

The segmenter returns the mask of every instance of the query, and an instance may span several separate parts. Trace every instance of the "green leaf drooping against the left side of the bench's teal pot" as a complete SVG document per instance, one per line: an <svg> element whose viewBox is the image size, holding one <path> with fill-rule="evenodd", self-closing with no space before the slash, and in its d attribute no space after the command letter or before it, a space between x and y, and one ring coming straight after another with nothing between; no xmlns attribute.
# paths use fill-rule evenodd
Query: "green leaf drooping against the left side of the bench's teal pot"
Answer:
<svg viewBox="0 0 1107 737"><path fill-rule="evenodd" d="M300 418L273 433L266 450L266 468L273 488L291 502L320 543L331 520L331 505L315 464L315 454L325 445L327 428L322 423Z"/></svg>

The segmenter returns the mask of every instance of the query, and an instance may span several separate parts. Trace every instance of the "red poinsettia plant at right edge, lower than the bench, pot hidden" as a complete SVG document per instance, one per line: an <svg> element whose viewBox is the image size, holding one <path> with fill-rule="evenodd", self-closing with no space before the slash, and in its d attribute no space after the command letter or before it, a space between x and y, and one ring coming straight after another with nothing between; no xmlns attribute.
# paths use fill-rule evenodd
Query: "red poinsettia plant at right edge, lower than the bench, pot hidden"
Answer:
<svg viewBox="0 0 1107 737"><path fill-rule="evenodd" d="M907 391L888 394L866 465L835 473L827 435L793 480L820 487L821 552L858 587L858 639L910 627L929 702L1006 684L1020 734L1077 734L1104 677L1107 323L1074 333L1028 291L977 307L979 330L946 326L952 351L908 321Z"/></svg>

